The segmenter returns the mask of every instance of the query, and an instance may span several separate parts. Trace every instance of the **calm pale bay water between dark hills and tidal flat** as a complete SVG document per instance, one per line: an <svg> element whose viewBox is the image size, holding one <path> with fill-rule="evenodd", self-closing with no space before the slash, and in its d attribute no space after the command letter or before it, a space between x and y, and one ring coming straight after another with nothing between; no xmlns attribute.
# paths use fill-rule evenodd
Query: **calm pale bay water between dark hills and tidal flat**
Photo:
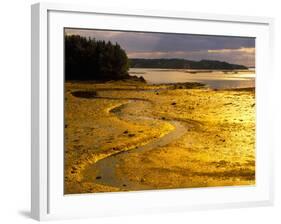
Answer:
<svg viewBox="0 0 281 224"><path fill-rule="evenodd" d="M255 87L255 71L211 71L184 69L130 69L131 75L143 76L149 84L200 82L210 88Z"/></svg>

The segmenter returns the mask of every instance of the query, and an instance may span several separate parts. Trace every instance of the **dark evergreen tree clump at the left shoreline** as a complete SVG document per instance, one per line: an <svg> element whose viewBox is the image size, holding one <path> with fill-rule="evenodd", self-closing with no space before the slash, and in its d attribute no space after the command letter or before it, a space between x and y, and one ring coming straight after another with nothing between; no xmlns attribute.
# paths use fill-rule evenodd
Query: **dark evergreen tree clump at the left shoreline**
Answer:
<svg viewBox="0 0 281 224"><path fill-rule="evenodd" d="M120 80L130 78L129 60L118 43L65 36L66 80Z"/></svg>

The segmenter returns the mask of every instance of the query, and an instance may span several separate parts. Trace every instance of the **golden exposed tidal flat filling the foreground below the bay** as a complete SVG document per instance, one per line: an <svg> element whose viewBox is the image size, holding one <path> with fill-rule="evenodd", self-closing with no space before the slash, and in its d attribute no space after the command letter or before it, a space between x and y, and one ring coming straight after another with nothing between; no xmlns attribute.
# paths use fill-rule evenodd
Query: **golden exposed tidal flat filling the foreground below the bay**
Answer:
<svg viewBox="0 0 281 224"><path fill-rule="evenodd" d="M65 194L253 184L254 88L65 83Z"/></svg>

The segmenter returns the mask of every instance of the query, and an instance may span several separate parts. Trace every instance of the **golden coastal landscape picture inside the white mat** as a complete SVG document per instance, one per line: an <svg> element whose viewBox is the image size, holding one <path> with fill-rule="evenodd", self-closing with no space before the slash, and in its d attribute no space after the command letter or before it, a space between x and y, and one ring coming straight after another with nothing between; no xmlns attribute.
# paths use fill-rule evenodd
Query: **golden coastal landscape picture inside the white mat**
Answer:
<svg viewBox="0 0 281 224"><path fill-rule="evenodd" d="M63 38L64 194L255 186L255 37Z"/></svg>

